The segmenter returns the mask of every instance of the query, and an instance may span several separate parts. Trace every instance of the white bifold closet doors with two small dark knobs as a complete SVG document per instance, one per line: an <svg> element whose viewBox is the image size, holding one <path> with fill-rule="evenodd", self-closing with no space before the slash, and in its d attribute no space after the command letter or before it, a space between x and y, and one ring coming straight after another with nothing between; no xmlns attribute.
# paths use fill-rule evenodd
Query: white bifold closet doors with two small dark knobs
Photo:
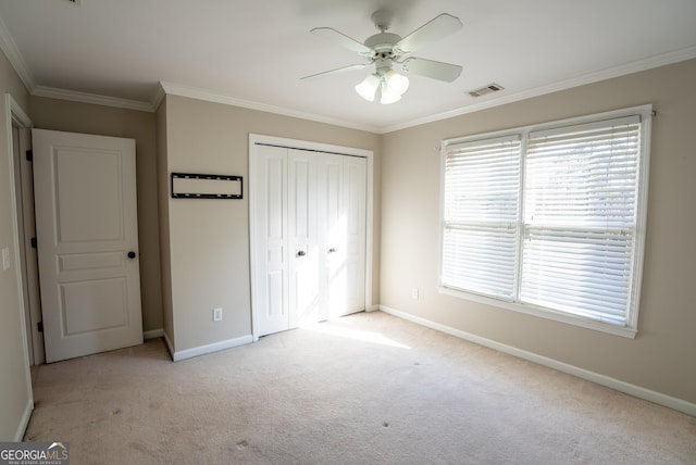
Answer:
<svg viewBox="0 0 696 465"><path fill-rule="evenodd" d="M364 310L365 159L258 146L251 168L257 335Z"/></svg>

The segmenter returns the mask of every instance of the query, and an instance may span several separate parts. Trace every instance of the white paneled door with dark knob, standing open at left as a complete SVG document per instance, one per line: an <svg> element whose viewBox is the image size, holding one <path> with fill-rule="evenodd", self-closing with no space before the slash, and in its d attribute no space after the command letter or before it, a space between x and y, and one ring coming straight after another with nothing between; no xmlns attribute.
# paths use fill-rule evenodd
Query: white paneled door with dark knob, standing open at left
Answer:
<svg viewBox="0 0 696 465"><path fill-rule="evenodd" d="M33 130L46 361L142 343L135 140Z"/></svg>

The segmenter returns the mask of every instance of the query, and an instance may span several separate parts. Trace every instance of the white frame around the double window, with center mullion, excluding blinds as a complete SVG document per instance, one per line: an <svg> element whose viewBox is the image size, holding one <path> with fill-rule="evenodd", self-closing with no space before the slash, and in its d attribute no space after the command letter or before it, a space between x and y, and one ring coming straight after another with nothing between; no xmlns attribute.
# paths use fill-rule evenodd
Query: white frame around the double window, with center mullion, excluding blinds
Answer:
<svg viewBox="0 0 696 465"><path fill-rule="evenodd" d="M526 155L526 140L531 133L539 130L548 130L559 127L587 124L594 122L600 122L605 120L613 120L625 116L637 115L641 118L641 153L639 153L639 171L637 183L637 204L636 204L636 236L635 236L635 261L631 281L631 296L630 296L630 309L626 315L625 326L620 326L610 323L602 323L599 321L586 318L583 316L573 315L570 313L555 311L546 307L540 307L527 303L521 303L517 301L508 301L494 297L483 296L474 292L468 292L460 289L448 288L443 285L443 232L445 229L445 166L447 150L449 147L471 142L480 139L492 139L498 137L508 136L521 136L522 137L522 161L521 161L521 180L520 180L520 204L524 201L523 192L524 186L524 158ZM651 120L654 116L652 105L646 104L641 106L633 106L617 111L610 111L605 113L597 113L586 116L580 116L574 118L568 118L562 121L555 121L549 123L536 124L531 126L517 127L512 129L499 130L494 133L477 134L472 136L459 137L453 139L446 139L440 144L440 212L439 212L439 249L438 249L438 291L443 294L452 296L461 299L465 299L473 302L484 303L487 305L497 306L505 310L524 313L527 315L534 315L546 319L551 319L560 323L566 323L583 328L594 329L616 336L622 336L625 338L635 338L637 334L638 323L638 310L639 310L639 297L641 297L641 282L643 274L643 260L645 252L645 229L647 219L647 200L648 200L648 174L649 174L649 149L650 149L650 133L651 133ZM522 210L522 206L520 206ZM524 218L520 212L519 222L523 222ZM518 241L518 257L522 253L521 240ZM519 279L521 266L518 260L517 279Z"/></svg>

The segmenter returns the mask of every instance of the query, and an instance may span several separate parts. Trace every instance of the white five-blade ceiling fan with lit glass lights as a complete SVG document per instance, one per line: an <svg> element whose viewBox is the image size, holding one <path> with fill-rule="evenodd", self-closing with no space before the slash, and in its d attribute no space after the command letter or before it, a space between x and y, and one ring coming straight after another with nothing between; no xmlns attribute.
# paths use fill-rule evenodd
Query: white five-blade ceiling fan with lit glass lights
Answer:
<svg viewBox="0 0 696 465"><path fill-rule="evenodd" d="M335 43L355 52L358 52L365 63L351 64L336 70L325 71L302 79L313 79L331 74L347 71L361 70L365 66L375 66L375 72L356 86L356 91L365 100L374 101L377 90L381 92L381 103L394 103L401 99L409 86L409 79L393 70L394 64L400 65L407 73L413 73L433 79L451 83L459 77L462 67L456 64L426 60L415 56L406 56L426 45L449 36L462 27L458 17L447 13L425 23L406 37L387 33L391 25L394 14L388 10L377 10L372 14L372 21L380 33L368 37L364 43L359 42L331 27L315 27L312 34L333 40Z"/></svg>

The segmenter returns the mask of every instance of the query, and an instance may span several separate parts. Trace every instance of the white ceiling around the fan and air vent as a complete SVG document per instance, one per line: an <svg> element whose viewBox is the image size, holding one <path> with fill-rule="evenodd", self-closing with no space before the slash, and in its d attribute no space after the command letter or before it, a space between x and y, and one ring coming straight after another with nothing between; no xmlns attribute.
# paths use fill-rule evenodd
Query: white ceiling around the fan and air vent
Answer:
<svg viewBox="0 0 696 465"><path fill-rule="evenodd" d="M445 84L409 76L381 105L353 90L370 71L300 77L361 59L310 34L363 41L378 7L400 36L446 12L463 28L413 55L460 64ZM695 0L0 0L0 46L35 95L157 104L167 91L385 133L696 58ZM490 83L505 90L474 99Z"/></svg>

